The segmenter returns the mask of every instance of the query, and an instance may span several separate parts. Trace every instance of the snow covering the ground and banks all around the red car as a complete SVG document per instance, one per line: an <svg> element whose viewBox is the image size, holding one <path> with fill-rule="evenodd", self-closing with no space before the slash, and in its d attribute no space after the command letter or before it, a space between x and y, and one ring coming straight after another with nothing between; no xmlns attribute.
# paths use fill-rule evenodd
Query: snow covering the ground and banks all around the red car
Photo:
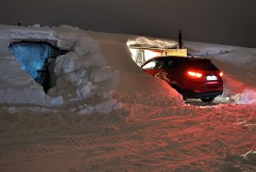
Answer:
<svg viewBox="0 0 256 172"><path fill-rule="evenodd" d="M183 102L133 62L137 37L0 25L0 171L256 171L256 49L184 41L225 93ZM20 40L68 51L47 94L8 51Z"/></svg>

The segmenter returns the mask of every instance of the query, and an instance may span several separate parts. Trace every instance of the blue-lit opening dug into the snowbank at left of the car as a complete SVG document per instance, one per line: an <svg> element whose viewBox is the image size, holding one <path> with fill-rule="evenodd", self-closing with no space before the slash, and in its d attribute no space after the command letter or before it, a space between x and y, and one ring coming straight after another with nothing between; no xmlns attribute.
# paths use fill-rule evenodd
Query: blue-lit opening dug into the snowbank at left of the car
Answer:
<svg viewBox="0 0 256 172"><path fill-rule="evenodd" d="M52 87L50 73L56 57L68 52L41 41L14 42L8 49L16 57L21 69L41 84L45 92Z"/></svg>

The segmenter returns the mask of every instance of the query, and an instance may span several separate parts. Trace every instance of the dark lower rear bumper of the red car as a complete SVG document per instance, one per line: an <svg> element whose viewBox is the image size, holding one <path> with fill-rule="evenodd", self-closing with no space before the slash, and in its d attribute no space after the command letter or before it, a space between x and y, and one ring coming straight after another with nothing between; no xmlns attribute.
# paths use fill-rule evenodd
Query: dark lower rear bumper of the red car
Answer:
<svg viewBox="0 0 256 172"><path fill-rule="evenodd" d="M221 95L223 94L223 90L195 93L193 90L183 89L181 90L181 94L183 99L201 99L204 97L216 97Z"/></svg>

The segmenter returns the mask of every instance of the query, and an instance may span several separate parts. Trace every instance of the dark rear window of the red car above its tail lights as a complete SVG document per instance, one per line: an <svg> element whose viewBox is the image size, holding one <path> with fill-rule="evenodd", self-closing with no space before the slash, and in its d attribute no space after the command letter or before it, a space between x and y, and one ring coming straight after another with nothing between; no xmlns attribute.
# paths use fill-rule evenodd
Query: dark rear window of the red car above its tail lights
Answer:
<svg viewBox="0 0 256 172"><path fill-rule="evenodd" d="M217 67L210 61L188 61L188 66L193 68L203 70L203 71L215 71L218 70Z"/></svg>

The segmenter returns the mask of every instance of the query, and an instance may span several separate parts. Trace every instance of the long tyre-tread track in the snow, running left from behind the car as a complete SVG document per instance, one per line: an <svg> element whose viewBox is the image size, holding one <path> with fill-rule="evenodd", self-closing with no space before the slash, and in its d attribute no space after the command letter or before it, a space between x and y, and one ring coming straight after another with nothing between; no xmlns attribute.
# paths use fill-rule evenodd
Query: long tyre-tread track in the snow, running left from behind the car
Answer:
<svg viewBox="0 0 256 172"><path fill-rule="evenodd" d="M141 136L148 137L155 133L161 133L160 131L163 131L163 129L168 130L168 132L176 132L177 136L179 136L182 135L182 131L184 130L188 131L188 129L192 129L194 131L193 127L199 130L198 125L200 121L206 119L205 116L203 118L189 116L189 113L191 113L190 109L177 110L175 108L168 108L161 110L155 116L150 116L150 120L148 121L129 122L120 125L102 124L94 126L90 124L83 129L67 131L68 133L66 135L62 134L59 137L52 137L50 142L43 142L40 137L36 141L36 144L33 142L24 142L19 150L13 151L14 153L6 153L6 151L1 151L1 149L0 151L6 157L13 159L20 155L36 156L42 153L57 153L77 148L90 148L91 145L107 145L133 141ZM184 116L184 114L187 114L187 116ZM193 122L188 122L188 116Z"/></svg>

